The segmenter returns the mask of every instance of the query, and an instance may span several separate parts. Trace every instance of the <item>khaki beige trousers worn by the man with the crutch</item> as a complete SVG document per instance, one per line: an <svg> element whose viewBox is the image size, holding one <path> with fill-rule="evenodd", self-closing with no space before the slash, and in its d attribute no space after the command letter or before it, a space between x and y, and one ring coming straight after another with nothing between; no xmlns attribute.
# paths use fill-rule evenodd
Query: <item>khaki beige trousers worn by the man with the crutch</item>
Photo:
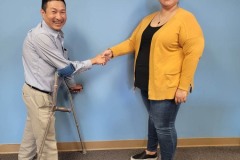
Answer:
<svg viewBox="0 0 240 160"><path fill-rule="evenodd" d="M18 160L32 160L40 149L53 102L51 95L37 91L26 84L23 86L23 100L27 107L27 120ZM53 116L41 160L57 159L55 116Z"/></svg>

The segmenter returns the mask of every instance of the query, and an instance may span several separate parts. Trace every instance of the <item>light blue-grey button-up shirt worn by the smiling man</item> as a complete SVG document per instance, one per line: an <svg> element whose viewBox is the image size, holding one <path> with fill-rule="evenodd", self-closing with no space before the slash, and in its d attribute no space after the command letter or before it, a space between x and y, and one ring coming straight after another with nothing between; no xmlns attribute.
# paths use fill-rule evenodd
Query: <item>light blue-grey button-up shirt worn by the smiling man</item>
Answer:
<svg viewBox="0 0 240 160"><path fill-rule="evenodd" d="M51 29L44 21L28 32L22 61L26 83L48 92L53 91L54 74L58 69L70 63L75 67L75 73L92 67L91 60L68 60L67 50L63 47L63 32Z"/></svg>

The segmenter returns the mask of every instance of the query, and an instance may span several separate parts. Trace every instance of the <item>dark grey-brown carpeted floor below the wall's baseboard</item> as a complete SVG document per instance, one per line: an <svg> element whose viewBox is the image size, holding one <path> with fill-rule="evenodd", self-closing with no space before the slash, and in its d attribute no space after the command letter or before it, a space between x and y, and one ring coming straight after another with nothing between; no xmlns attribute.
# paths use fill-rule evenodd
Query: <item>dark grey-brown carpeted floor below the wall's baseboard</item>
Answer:
<svg viewBox="0 0 240 160"><path fill-rule="evenodd" d="M61 152L59 160L129 160L142 150ZM0 155L0 160L17 160L17 155ZM240 147L178 148L174 160L240 160Z"/></svg>

